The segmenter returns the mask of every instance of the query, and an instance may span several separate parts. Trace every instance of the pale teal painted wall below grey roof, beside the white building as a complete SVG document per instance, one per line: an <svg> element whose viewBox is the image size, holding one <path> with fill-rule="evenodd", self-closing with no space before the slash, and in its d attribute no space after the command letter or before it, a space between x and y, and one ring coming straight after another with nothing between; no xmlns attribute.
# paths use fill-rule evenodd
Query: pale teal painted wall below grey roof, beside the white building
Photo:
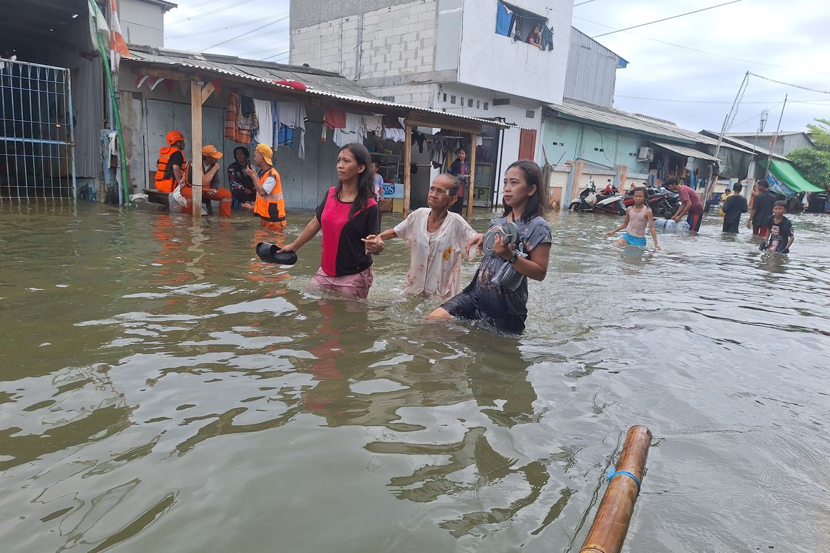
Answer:
<svg viewBox="0 0 830 553"><path fill-rule="evenodd" d="M625 165L635 172L648 172L648 162L637 162L637 152L649 144L649 139L638 134L546 117L542 144L551 164L579 158L608 167Z"/></svg>

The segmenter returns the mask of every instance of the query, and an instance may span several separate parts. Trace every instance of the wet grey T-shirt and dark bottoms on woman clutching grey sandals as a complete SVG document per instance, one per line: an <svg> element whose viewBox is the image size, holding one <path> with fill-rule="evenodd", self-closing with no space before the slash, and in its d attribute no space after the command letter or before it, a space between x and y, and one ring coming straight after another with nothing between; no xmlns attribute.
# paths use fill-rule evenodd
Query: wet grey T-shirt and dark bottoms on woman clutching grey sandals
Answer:
<svg viewBox="0 0 830 553"><path fill-rule="evenodd" d="M506 217L493 221L491 229L504 225ZM548 221L535 217L530 221L515 221L519 227L520 242L525 253L540 244L550 244L551 232ZM493 277L507 263L498 255L487 255L476 271L476 276L463 292L450 298L442 305L453 317L481 319L499 330L520 333L525 330L527 319L527 277L522 277L515 290L495 284Z"/></svg>

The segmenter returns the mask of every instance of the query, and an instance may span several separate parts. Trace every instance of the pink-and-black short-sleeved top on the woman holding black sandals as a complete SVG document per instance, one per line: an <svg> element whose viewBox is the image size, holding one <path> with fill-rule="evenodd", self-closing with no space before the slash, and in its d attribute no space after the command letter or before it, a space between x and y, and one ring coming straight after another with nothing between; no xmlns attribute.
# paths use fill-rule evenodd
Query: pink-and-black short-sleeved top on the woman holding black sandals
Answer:
<svg viewBox="0 0 830 553"><path fill-rule="evenodd" d="M357 274L372 266L361 239L380 232L380 210L374 198L349 221L352 202L339 201L331 187L317 206L317 220L323 230L323 255L320 269L330 277Z"/></svg>

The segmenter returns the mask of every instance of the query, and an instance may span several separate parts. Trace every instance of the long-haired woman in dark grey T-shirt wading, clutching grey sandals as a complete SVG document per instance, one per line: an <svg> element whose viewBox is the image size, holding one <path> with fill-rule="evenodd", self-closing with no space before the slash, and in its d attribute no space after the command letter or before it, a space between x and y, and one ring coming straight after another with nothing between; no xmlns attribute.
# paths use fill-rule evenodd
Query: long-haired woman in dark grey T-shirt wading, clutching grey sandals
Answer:
<svg viewBox="0 0 830 553"><path fill-rule="evenodd" d="M520 250L515 250L512 243L505 244L505 240L497 235L493 253L481 260L472 282L428 318L483 320L500 331L514 334L525 330L527 279L544 280L550 256L550 225L543 217L548 201L539 166L529 160L512 163L505 172L503 198L505 212L490 228L494 230L505 223L514 223L519 231ZM467 242L468 253L473 246L481 246L483 241L484 235L473 236ZM510 264L510 268L520 275L515 289L494 282L494 278L498 280L498 275L502 274L505 264Z"/></svg>

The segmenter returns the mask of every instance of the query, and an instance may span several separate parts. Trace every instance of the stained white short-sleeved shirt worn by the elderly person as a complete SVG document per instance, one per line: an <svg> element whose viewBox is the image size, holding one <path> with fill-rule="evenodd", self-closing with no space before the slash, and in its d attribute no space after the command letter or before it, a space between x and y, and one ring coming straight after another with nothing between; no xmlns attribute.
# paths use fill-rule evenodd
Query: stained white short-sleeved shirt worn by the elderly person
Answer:
<svg viewBox="0 0 830 553"><path fill-rule="evenodd" d="M429 207L417 209L394 229L410 250L406 293L452 298L461 292L461 258L476 231L464 217L447 213L438 230L429 232L431 212Z"/></svg>

